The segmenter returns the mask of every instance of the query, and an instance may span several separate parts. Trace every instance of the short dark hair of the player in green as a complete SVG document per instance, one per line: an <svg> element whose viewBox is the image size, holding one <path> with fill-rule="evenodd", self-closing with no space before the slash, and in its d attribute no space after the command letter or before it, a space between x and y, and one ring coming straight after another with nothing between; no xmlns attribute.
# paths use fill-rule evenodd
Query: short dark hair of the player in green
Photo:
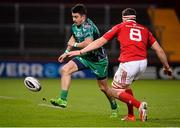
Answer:
<svg viewBox="0 0 180 128"><path fill-rule="evenodd" d="M84 4L76 4L71 8L72 13L79 13L80 15L87 15L87 9Z"/></svg>

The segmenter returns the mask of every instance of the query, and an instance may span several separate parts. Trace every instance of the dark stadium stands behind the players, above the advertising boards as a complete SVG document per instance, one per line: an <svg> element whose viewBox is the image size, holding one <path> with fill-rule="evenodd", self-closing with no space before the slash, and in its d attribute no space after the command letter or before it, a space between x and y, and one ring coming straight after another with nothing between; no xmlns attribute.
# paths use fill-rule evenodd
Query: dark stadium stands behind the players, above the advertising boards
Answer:
<svg viewBox="0 0 180 128"><path fill-rule="evenodd" d="M87 6L89 17L97 24L102 34L114 24L121 22L121 11L124 8L134 7L138 13L138 22L147 26L160 44L163 42L161 38L164 27L153 25L148 9L174 9L178 20L180 15L178 0L0 0L1 64L9 61L57 62L58 56L65 50L70 35L69 28L72 23L70 8L77 3L84 3ZM107 8L110 10L108 15L105 12ZM105 46L110 58L110 76L118 65L119 53L116 40L112 42ZM179 40L176 42L179 43ZM174 74L179 79L180 57L171 59L174 51L165 51L170 64L174 69L178 69ZM159 60L152 50L149 49L148 53L149 65L155 66L153 68L157 72L155 78L162 78L159 77L161 72Z"/></svg>

